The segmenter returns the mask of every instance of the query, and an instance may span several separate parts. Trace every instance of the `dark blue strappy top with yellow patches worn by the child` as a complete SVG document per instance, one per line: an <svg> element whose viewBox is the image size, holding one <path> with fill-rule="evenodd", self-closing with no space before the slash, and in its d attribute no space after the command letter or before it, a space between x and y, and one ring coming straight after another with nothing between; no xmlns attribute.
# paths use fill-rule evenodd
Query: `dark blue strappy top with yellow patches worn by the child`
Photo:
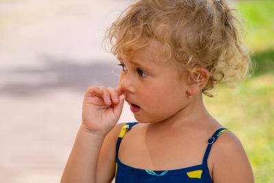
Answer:
<svg viewBox="0 0 274 183"><path fill-rule="evenodd" d="M127 123L122 127L121 133L116 144L116 171L115 171L115 182L116 183L136 183L136 182L157 182L157 183L173 183L173 182L184 182L184 183L195 183L195 182L207 182L212 183L210 177L210 171L208 169L208 155L212 144L216 141L218 136L227 131L226 128L220 128L208 139L208 147L206 153L203 156L202 164L187 167L184 169L174 169L166 171L153 171L145 169L136 169L123 164L118 158L119 147L125 133L131 129L133 125L137 123Z"/></svg>

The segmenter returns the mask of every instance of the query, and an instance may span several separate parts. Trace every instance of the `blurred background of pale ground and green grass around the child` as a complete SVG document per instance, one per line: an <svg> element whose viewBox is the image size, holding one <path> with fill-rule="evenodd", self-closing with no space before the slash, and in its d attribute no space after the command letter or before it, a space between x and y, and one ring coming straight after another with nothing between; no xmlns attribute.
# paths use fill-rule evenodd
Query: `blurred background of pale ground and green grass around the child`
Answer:
<svg viewBox="0 0 274 183"><path fill-rule="evenodd" d="M206 106L242 141L256 182L274 181L274 1L230 1L256 62ZM90 85L118 84L105 29L129 0L0 0L0 183L60 182ZM134 121L125 106L120 121Z"/></svg>

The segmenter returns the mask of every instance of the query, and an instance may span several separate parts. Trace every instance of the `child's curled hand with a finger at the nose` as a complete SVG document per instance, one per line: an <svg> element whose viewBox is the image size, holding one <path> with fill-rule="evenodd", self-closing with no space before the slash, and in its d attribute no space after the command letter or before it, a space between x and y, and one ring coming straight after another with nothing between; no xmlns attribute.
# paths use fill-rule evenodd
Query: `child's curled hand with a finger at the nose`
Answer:
<svg viewBox="0 0 274 183"><path fill-rule="evenodd" d="M97 135L105 136L118 122L125 95L121 87L91 86L86 90L82 110L82 126Z"/></svg>

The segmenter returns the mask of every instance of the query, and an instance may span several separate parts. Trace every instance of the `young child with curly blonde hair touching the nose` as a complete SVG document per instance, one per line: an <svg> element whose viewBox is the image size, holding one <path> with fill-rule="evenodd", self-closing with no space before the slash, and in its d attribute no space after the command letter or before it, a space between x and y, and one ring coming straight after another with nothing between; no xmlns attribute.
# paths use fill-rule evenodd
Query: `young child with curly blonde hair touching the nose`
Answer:
<svg viewBox="0 0 274 183"><path fill-rule="evenodd" d="M225 0L130 5L107 34L119 86L86 90L61 182L254 182L240 141L202 96L248 74L237 21ZM124 100L138 123L116 125Z"/></svg>

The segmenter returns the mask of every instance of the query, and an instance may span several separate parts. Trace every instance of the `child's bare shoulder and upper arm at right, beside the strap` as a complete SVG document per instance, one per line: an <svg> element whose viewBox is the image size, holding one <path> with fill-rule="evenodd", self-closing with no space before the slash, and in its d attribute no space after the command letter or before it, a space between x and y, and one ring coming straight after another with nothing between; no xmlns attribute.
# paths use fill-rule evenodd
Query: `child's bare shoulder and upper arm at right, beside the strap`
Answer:
<svg viewBox="0 0 274 183"><path fill-rule="evenodd" d="M238 137L232 132L223 132L212 145L208 161L212 164L214 183L252 183L253 171ZM209 162L209 163L210 163Z"/></svg>

